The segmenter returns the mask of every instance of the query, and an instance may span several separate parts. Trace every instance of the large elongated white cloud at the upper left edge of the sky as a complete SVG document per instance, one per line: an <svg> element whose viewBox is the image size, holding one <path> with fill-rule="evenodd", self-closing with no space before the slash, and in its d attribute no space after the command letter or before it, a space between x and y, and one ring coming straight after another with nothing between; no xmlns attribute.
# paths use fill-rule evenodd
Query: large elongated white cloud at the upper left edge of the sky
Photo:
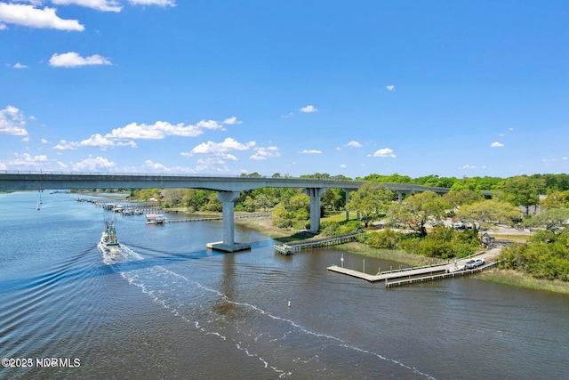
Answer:
<svg viewBox="0 0 569 380"><path fill-rule="evenodd" d="M0 22L29 28L54 28L75 31L83 31L85 29L77 20L60 19L55 14L54 8L46 6L44 9L38 9L33 5L27 4L0 3Z"/></svg>

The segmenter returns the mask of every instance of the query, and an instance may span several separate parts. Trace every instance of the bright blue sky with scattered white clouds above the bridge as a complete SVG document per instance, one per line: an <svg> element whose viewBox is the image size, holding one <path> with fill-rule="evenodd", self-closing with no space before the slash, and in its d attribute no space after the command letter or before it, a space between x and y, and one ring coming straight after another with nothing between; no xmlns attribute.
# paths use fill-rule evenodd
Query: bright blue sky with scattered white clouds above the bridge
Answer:
<svg viewBox="0 0 569 380"><path fill-rule="evenodd" d="M0 170L569 172L566 1L0 0Z"/></svg>

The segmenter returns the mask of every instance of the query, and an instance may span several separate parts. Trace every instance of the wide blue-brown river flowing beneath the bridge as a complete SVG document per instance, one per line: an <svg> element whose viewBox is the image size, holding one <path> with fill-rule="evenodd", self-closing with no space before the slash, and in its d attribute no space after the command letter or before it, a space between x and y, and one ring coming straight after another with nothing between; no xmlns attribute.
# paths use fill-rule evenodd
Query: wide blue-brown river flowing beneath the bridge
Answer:
<svg viewBox="0 0 569 380"><path fill-rule="evenodd" d="M567 295L476 277L387 290L326 271L399 265L341 247L275 255L237 226L251 251L207 250L220 221L115 216L124 253L104 257L109 215L74 198L0 195L0 378L569 378Z"/></svg>

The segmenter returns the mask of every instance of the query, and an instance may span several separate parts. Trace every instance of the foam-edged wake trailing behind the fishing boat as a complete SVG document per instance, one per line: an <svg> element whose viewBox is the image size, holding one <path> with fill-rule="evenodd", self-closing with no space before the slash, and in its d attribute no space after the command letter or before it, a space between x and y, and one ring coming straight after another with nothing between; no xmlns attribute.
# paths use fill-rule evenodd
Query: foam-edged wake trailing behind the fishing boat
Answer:
<svg viewBox="0 0 569 380"><path fill-rule="evenodd" d="M401 376L434 379L398 360L389 359L348 344L338 337L321 334L302 327L292 319L279 317L251 303L231 300L217 289L204 286L162 265L140 266L140 269L121 271L120 263L145 260L142 255L121 245L103 254L103 262L151 297L153 301L205 335L217 336L231 343L239 352L260 361L261 366L274 371L278 377L329 377L345 370L339 366L345 351L365 355L349 373L354 378L376 374L378 361L393 366ZM313 336L309 347L306 336ZM362 359L360 357L360 359ZM317 374L314 373L315 368Z"/></svg>

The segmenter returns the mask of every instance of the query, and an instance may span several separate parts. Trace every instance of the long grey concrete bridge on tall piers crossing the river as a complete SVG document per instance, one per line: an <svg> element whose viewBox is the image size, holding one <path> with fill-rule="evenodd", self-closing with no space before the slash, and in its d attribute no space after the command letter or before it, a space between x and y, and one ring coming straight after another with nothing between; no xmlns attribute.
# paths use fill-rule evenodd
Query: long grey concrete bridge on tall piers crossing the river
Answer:
<svg viewBox="0 0 569 380"><path fill-rule="evenodd" d="M15 190L74 190L74 189L202 189L215 190L223 206L223 241L208 247L227 252L249 249L235 242L233 209L239 191L259 188L301 188L310 197L310 230L320 229L320 197L326 189L344 189L346 202L349 191L359 189L364 182L333 179L291 177L198 176L185 174L112 174L63 172L0 171L0 191ZM404 194L434 191L445 194L446 188L419 186L408 183L383 183L397 191L399 201ZM348 218L348 212L346 214Z"/></svg>

